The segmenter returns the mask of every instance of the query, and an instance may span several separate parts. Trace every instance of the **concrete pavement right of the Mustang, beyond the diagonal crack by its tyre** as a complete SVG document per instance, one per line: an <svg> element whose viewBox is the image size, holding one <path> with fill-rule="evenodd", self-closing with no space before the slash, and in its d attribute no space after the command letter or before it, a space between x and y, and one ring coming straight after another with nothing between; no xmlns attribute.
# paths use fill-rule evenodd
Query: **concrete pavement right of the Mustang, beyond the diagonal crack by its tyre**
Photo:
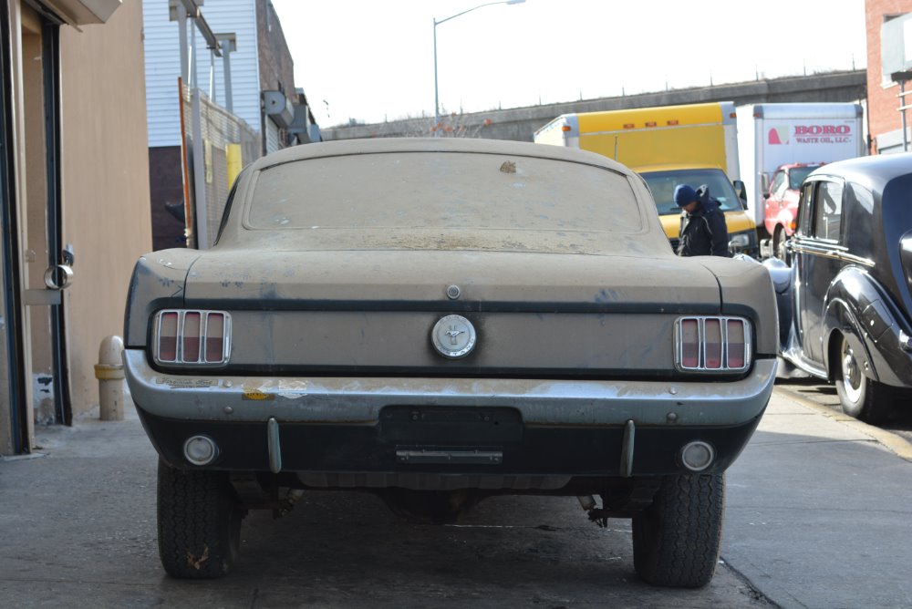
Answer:
<svg viewBox="0 0 912 609"><path fill-rule="evenodd" d="M728 474L722 557L782 607L912 606L903 440L774 394Z"/></svg>

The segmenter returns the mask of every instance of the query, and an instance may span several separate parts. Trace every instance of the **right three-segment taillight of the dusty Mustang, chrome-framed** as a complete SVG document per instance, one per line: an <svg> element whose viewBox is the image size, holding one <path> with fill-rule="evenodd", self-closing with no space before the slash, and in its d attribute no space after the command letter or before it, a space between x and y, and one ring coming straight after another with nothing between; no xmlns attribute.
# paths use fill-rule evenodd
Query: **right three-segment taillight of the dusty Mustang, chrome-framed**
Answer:
<svg viewBox="0 0 912 609"><path fill-rule="evenodd" d="M751 323L741 317L679 317L675 366L700 372L740 372L751 365Z"/></svg>

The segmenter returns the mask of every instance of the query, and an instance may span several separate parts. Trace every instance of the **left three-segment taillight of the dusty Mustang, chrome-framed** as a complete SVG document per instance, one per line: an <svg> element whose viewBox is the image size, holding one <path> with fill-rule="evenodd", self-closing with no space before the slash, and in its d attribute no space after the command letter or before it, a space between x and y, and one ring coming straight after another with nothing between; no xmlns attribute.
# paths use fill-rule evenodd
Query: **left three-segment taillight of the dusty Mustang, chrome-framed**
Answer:
<svg viewBox="0 0 912 609"><path fill-rule="evenodd" d="M152 328L152 356L165 365L222 366L231 354L231 315L224 311L159 311Z"/></svg>

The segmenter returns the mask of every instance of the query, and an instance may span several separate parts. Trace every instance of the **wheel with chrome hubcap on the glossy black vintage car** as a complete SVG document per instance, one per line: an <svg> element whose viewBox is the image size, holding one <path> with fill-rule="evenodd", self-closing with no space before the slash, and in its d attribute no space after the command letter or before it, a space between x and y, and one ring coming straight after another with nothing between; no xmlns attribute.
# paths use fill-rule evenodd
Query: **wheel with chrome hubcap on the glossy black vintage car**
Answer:
<svg viewBox="0 0 912 609"><path fill-rule="evenodd" d="M893 409L892 391L890 387L866 377L861 364L844 336L836 374L836 393L839 394L843 412L866 423L885 423Z"/></svg>

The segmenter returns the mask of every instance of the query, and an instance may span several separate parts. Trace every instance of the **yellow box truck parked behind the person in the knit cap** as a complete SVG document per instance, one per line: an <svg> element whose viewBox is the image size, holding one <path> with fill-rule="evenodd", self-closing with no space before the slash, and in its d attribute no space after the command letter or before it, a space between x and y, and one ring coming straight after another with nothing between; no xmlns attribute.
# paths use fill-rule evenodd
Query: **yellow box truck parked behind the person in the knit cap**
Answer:
<svg viewBox="0 0 912 609"><path fill-rule="evenodd" d="M637 171L648 183L676 249L680 208L673 199L675 186L708 185L725 212L729 250L756 257L757 226L745 211L737 133L734 104L722 101L563 114L535 131L534 141L597 152Z"/></svg>

